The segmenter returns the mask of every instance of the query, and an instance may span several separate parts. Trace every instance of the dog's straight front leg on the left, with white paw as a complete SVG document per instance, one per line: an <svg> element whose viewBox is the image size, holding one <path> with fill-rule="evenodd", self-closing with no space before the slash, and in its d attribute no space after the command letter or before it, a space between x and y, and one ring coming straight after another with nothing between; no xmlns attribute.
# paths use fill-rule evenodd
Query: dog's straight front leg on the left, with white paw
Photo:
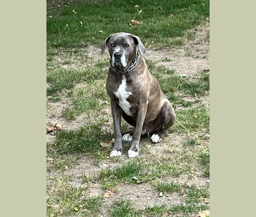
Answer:
<svg viewBox="0 0 256 217"><path fill-rule="evenodd" d="M110 157L121 156L122 154L122 134L121 134L121 109L117 101L111 101L111 112L114 121L115 142L110 152Z"/></svg>

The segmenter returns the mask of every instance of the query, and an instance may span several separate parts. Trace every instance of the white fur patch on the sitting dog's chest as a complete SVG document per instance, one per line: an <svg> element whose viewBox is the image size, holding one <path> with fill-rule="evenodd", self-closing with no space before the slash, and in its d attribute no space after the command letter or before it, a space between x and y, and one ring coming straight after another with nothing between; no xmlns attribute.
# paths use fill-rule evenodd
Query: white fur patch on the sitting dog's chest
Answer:
<svg viewBox="0 0 256 217"><path fill-rule="evenodd" d="M116 97L119 99L119 106L125 112L126 115L132 116L130 113L130 103L127 101L127 98L132 95L132 92L127 92L126 89L126 77L122 76L122 83L119 86L118 90L114 92Z"/></svg>

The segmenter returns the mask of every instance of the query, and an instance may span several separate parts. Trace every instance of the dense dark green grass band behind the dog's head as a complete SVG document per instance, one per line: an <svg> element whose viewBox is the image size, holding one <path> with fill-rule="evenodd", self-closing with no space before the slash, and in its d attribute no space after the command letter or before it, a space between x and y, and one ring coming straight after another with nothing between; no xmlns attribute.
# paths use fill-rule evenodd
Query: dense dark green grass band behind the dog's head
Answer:
<svg viewBox="0 0 256 217"><path fill-rule="evenodd" d="M61 7L59 15L47 18L47 47L100 44L110 34L121 31L139 35L148 45L168 46L180 43L172 38L182 37L185 30L207 17L209 0L102 1L97 4L81 1ZM132 19L143 23L130 25Z"/></svg>

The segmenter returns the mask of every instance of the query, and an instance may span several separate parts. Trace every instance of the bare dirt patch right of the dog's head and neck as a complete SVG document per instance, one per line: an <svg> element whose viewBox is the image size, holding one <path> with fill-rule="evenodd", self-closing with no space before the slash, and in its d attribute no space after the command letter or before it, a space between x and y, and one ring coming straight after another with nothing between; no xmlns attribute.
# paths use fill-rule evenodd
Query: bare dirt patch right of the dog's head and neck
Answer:
<svg viewBox="0 0 256 217"><path fill-rule="evenodd" d="M195 38L185 38L185 45L161 50L147 49L144 57L156 62L156 65L174 69L177 74L185 73L189 78L198 76L198 71L210 68L209 29L209 22L202 22L200 26L187 31L187 34L193 32ZM171 61L161 61L165 58Z"/></svg>

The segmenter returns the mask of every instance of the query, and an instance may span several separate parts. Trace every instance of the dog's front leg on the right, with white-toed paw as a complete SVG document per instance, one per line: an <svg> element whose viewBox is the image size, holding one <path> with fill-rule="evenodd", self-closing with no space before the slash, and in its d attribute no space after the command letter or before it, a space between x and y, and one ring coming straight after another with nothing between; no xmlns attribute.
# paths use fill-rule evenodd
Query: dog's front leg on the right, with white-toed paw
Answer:
<svg viewBox="0 0 256 217"><path fill-rule="evenodd" d="M140 141L143 123L144 123L145 116L147 113L147 106L148 106L148 101L141 104L138 108L136 127L135 127L135 131L132 135L132 144L128 151L129 158L135 158L139 155L139 141Z"/></svg>

